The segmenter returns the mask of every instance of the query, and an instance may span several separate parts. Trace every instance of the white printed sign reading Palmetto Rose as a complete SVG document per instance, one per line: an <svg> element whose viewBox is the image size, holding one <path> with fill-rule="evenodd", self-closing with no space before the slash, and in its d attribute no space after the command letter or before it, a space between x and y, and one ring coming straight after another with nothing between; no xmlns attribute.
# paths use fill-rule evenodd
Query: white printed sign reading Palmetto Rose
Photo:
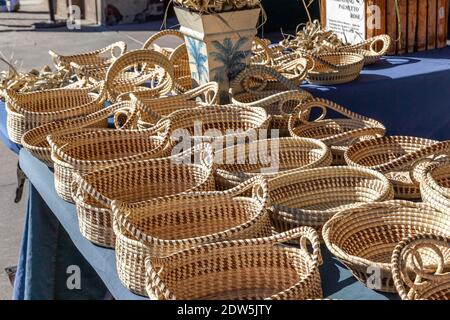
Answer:
<svg viewBox="0 0 450 320"><path fill-rule="evenodd" d="M348 43L366 38L364 0L327 0L326 26Z"/></svg>

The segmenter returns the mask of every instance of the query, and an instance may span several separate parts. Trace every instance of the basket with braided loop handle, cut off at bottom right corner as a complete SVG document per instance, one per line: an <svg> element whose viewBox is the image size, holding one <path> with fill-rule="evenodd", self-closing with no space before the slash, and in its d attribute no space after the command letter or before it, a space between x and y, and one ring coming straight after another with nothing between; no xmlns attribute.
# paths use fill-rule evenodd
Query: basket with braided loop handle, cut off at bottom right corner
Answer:
<svg viewBox="0 0 450 320"><path fill-rule="evenodd" d="M418 234L400 242L392 254L395 288L402 300L450 300L450 237ZM447 254L447 256L446 256ZM435 270L422 262L437 261Z"/></svg>

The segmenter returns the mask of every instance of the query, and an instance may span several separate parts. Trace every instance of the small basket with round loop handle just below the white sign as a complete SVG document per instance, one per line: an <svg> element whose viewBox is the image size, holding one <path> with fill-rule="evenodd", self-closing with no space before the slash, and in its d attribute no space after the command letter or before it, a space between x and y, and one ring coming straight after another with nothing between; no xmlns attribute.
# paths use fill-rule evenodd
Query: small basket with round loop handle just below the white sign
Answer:
<svg viewBox="0 0 450 320"><path fill-rule="evenodd" d="M382 34L364 40L360 43L338 48L341 52L354 52L364 56L364 64L374 64L384 56L391 47L392 38L387 34Z"/></svg>

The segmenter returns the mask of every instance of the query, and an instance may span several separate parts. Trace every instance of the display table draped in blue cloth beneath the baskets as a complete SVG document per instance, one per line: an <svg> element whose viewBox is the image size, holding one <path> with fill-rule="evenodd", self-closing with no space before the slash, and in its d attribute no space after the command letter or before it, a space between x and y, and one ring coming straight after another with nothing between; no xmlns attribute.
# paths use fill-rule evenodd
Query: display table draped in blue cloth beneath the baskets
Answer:
<svg viewBox="0 0 450 320"><path fill-rule="evenodd" d="M305 85L355 112L382 121L390 134L450 138L450 48L389 57L363 71L357 81L331 87ZM5 130L0 103L0 139L17 152ZM114 251L91 244L78 230L75 208L54 189L53 173L25 150L20 166L30 180L16 299L142 299L119 281ZM12 201L12 200L11 200ZM366 288L326 248L322 250L323 291L332 299L395 299ZM67 268L79 266L81 289L69 290ZM110 295L109 295L110 294Z"/></svg>

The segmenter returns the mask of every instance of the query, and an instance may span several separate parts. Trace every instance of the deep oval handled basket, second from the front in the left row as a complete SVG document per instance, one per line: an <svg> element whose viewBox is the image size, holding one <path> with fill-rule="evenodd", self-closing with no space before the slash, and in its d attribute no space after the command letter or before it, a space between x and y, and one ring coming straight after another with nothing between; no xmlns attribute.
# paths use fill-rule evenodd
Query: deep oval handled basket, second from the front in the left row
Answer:
<svg viewBox="0 0 450 320"><path fill-rule="evenodd" d="M252 195L245 196L251 190ZM120 279L145 295L147 256L165 257L205 243L270 235L266 202L267 182L261 177L226 192L196 192L138 204L113 202ZM136 240L145 250L139 251Z"/></svg>

